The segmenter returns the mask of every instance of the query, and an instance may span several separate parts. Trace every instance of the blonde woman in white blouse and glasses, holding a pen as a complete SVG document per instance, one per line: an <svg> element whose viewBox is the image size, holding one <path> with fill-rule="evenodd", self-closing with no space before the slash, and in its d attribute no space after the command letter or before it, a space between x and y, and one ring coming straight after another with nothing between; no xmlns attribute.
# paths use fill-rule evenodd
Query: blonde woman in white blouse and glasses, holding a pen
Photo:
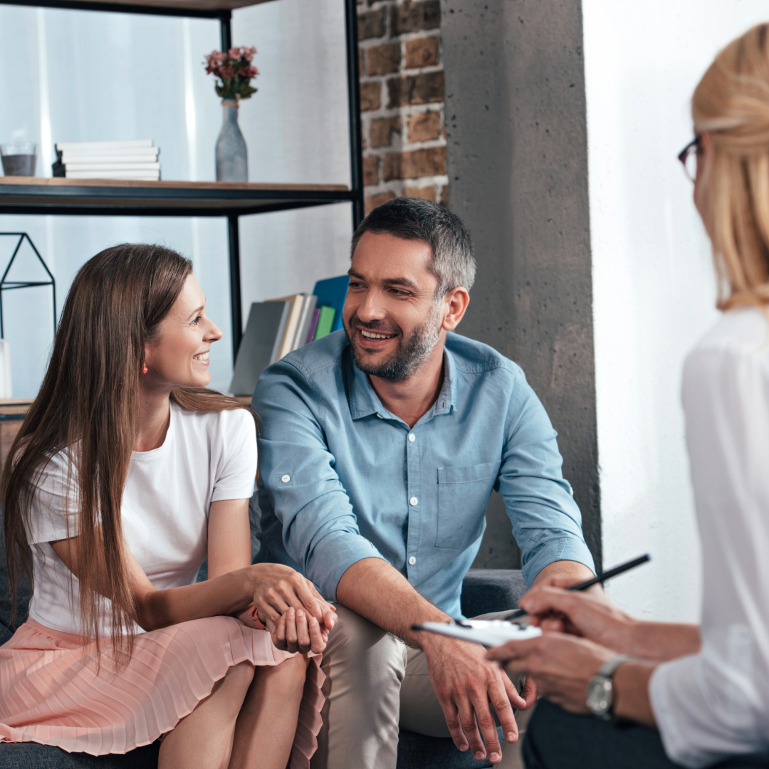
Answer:
<svg viewBox="0 0 769 769"><path fill-rule="evenodd" d="M696 165L724 287L683 381L702 624L636 621L562 582L534 588L521 605L544 635L490 652L547 698L528 769L769 766L769 25L717 55L692 114L681 160Z"/></svg>

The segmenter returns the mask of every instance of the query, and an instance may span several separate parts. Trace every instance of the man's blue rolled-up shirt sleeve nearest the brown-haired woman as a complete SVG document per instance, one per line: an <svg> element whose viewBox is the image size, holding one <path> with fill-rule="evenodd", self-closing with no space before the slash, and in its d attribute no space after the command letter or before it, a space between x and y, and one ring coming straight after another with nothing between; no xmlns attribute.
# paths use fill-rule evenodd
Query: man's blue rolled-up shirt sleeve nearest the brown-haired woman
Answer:
<svg viewBox="0 0 769 769"><path fill-rule="evenodd" d="M288 555L321 594L336 600L342 574L364 558L382 558L361 536L322 426L325 401L291 363L259 378L253 399L261 435L260 485L283 530Z"/></svg>

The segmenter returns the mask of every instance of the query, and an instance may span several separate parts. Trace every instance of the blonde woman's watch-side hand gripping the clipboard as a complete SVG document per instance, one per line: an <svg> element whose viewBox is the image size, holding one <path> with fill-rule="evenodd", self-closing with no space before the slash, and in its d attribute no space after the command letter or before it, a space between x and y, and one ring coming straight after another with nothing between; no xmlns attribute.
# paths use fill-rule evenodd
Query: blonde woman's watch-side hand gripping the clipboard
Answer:
<svg viewBox="0 0 769 769"><path fill-rule="evenodd" d="M504 664L514 678L534 679L542 697L571 713L588 713L588 682L616 654L584 638L547 633L489 649L488 658Z"/></svg>

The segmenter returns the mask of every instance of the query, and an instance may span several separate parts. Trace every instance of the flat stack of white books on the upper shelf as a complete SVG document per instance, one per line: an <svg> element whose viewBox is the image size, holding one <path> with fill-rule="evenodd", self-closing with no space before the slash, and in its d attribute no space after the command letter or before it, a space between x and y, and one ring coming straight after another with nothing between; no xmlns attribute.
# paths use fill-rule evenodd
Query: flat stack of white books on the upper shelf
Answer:
<svg viewBox="0 0 769 769"><path fill-rule="evenodd" d="M158 181L158 147L151 139L132 141L60 141L54 176L68 179L136 179Z"/></svg>

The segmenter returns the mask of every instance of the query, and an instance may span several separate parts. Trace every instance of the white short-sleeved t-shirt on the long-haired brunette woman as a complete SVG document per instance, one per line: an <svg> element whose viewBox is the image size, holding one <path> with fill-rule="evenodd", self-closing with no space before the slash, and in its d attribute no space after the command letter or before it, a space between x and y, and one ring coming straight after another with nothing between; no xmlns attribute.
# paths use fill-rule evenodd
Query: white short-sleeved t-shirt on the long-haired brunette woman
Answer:
<svg viewBox="0 0 769 769"><path fill-rule="evenodd" d="M171 402L161 447L131 454L122 498L123 535L156 588L195 582L208 554L211 502L251 497L256 451L254 419L245 409L188 411ZM43 471L32 500L35 592L29 616L46 628L80 634L78 580L50 544L77 533L72 482L65 506L67 473L68 452L62 451ZM111 633L107 619L102 632L105 637Z"/></svg>

